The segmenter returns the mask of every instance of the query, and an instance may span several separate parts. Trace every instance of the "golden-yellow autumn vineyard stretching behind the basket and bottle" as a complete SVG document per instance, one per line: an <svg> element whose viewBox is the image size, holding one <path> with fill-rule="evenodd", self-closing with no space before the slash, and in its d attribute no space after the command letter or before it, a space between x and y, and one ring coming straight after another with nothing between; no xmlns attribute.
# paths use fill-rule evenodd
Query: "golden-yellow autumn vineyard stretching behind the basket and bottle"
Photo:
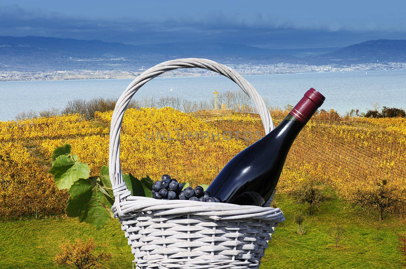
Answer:
<svg viewBox="0 0 406 269"><path fill-rule="evenodd" d="M287 113L271 112L275 124ZM24 196L27 186L35 181L36 188L41 190L38 193L48 197L50 203L62 197L58 200L62 202L54 203L56 208L37 206L36 210L43 214L63 211L66 193L55 188L36 158L49 161L56 147L68 143L73 154L89 164L91 173L98 173L102 165L108 164L111 116L109 111L96 112L92 121L81 115L64 115L0 122L2 199ZM121 129L121 165L124 173L136 177L149 175L157 179L168 173L192 185L209 184L235 154L263 134L255 114L217 115L207 111L185 114L168 107L128 109ZM25 147L37 150L35 158ZM335 111L320 113L292 146L278 189L292 190L298 181L311 177L351 201L358 190L376 188L385 180L397 196L406 197L402 195L406 193L405 155L404 118L341 118ZM6 203L0 202L2 207ZM22 207L15 210L31 214L35 210L32 205ZM13 211L2 210L7 214Z"/></svg>

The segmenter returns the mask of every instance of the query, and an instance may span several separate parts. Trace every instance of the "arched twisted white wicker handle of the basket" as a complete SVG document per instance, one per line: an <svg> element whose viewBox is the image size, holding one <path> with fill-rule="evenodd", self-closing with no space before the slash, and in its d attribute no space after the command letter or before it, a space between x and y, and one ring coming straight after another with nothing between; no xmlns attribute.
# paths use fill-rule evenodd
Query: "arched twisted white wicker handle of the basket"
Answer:
<svg viewBox="0 0 406 269"><path fill-rule="evenodd" d="M128 193L125 183L123 183L120 165L120 130L125 109L127 108L132 96L138 91L139 88L141 88L142 85L166 71L177 68L204 68L228 77L237 83L237 85L240 86L240 88L253 100L258 109L259 115L261 116L263 127L265 128L265 134L274 128L271 115L261 96L259 96L254 87L241 75L235 72L235 70L207 59L187 58L162 62L149 68L148 70L145 70L144 73L134 79L125 89L123 94L121 94L120 98L117 100L116 107L114 108L110 126L109 171L114 196L116 196L116 198L118 198L117 196L120 194L126 196L125 194Z"/></svg>

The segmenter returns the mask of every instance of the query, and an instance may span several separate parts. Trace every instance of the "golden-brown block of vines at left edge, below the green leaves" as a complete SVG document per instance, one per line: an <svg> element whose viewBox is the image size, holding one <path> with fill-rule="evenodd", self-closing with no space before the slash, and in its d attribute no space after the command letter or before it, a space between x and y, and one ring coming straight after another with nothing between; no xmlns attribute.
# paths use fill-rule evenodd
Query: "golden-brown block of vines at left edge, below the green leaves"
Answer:
<svg viewBox="0 0 406 269"><path fill-rule="evenodd" d="M48 216L65 211L68 193L59 190L37 159L17 143L0 143L0 218Z"/></svg>

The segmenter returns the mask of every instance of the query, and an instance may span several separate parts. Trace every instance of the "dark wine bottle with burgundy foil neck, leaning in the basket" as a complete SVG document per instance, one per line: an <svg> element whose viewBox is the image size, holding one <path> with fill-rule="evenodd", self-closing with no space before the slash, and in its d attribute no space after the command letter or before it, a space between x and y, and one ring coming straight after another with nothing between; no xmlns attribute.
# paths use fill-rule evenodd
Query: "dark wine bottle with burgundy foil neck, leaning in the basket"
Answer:
<svg viewBox="0 0 406 269"><path fill-rule="evenodd" d="M262 206L276 188L293 141L324 100L308 90L272 132L232 158L207 191L225 203Z"/></svg>

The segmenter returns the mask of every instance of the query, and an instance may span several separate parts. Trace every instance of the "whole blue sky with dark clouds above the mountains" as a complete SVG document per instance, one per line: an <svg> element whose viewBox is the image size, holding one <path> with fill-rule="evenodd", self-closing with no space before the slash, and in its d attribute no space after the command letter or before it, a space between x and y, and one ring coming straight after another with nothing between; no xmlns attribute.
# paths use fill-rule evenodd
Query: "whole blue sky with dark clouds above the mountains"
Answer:
<svg viewBox="0 0 406 269"><path fill-rule="evenodd" d="M0 35L127 44L224 42L343 47L406 39L406 1L0 0Z"/></svg>

